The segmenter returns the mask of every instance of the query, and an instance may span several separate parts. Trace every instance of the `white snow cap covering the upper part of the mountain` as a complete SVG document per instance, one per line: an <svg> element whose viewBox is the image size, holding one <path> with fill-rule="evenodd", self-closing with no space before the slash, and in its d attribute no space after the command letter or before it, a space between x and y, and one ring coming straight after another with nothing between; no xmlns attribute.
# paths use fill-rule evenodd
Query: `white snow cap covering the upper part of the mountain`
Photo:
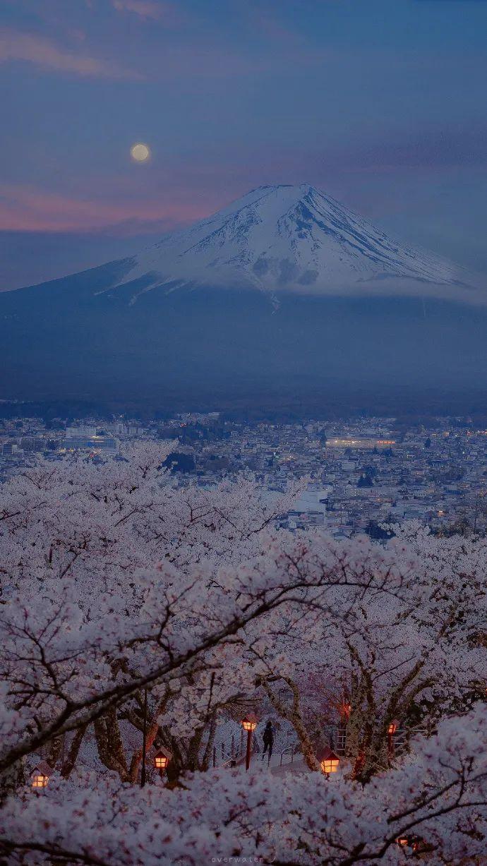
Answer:
<svg viewBox="0 0 487 866"><path fill-rule="evenodd" d="M409 249L308 184L262 186L133 260L123 282L334 294L452 295L460 268ZM465 287L466 288L466 287Z"/></svg>

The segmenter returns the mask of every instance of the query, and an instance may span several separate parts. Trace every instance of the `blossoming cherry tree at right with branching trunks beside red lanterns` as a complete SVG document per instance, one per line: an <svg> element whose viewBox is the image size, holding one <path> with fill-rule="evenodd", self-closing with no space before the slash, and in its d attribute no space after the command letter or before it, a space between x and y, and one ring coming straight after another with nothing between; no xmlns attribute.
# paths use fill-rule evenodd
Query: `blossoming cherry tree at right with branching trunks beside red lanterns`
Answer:
<svg viewBox="0 0 487 866"><path fill-rule="evenodd" d="M391 725L406 727L407 736L432 730L486 686L486 541L436 539L410 525L387 549L414 575L401 592L368 592L353 611L337 598L328 637L304 656L297 651L295 676L263 681L272 706L294 725L308 766L315 729L340 725L362 780L388 766Z"/></svg>

